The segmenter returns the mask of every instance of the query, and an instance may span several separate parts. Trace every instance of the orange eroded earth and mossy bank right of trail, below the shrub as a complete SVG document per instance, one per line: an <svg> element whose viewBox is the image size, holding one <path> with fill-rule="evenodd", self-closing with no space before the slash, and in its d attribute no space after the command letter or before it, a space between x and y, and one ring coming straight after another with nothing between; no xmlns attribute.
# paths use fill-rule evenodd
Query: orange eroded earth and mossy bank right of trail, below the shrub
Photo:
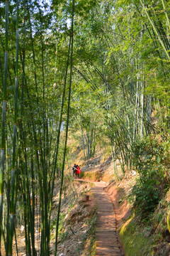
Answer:
<svg viewBox="0 0 170 256"><path fill-rule="evenodd" d="M152 218L142 218L132 210L129 195L132 179L111 183L105 190L115 210L116 227L126 256L169 256L170 234L166 225L169 192L157 206Z"/></svg>

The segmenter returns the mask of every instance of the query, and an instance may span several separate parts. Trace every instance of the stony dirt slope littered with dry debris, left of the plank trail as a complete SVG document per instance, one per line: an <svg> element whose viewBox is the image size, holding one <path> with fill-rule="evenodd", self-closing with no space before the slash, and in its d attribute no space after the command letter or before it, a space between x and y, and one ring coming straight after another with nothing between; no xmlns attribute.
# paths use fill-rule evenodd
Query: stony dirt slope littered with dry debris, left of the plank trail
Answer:
<svg viewBox="0 0 170 256"><path fill-rule="evenodd" d="M72 202L63 201L57 256L93 256L96 252L96 205L93 196L86 200L91 184L74 182L74 188L76 195ZM52 240L55 240L55 233Z"/></svg>

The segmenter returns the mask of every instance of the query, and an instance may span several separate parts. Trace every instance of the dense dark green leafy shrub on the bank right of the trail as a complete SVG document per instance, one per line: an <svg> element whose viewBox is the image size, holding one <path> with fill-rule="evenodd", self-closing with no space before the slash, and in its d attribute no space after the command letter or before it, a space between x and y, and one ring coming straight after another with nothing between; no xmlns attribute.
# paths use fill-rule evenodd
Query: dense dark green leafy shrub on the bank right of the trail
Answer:
<svg viewBox="0 0 170 256"><path fill-rule="evenodd" d="M157 139L147 137L135 145L135 168L139 177L132 189L134 207L142 215L152 213L167 188L167 151Z"/></svg>

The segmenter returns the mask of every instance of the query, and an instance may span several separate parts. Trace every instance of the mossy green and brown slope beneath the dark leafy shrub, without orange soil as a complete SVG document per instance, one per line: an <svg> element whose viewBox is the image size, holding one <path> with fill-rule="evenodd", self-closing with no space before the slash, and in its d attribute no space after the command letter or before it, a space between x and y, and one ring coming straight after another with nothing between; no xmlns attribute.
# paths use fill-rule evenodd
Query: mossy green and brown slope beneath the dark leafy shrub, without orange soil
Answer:
<svg viewBox="0 0 170 256"><path fill-rule="evenodd" d="M119 230L126 256L169 256L169 209L170 190L147 215L133 208L133 217Z"/></svg>

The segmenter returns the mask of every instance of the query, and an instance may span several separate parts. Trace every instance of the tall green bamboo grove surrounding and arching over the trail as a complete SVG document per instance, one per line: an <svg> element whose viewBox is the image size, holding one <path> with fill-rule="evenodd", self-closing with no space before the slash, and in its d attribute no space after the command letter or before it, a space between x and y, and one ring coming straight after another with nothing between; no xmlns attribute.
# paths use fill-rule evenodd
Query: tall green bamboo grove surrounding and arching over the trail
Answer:
<svg viewBox="0 0 170 256"><path fill-rule="evenodd" d="M26 255L57 255L69 134L84 160L106 142L117 180L139 140L169 139L169 6L2 1L0 21L0 255L19 255L21 226Z"/></svg>

